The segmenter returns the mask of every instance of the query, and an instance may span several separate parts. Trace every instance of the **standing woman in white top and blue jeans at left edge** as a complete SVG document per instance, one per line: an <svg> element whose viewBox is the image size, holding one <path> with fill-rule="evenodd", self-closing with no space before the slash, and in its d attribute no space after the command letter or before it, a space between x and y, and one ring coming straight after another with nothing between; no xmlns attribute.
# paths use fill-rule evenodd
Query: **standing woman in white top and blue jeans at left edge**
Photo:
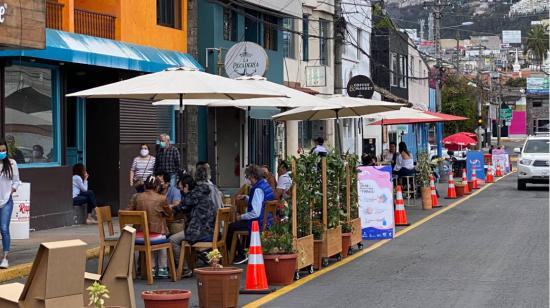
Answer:
<svg viewBox="0 0 550 308"><path fill-rule="evenodd" d="M8 253L10 252L10 220L13 211L12 194L17 191L19 169L17 162L8 157L8 144L0 140L0 234L2 234L2 250L4 252L0 268L8 268Z"/></svg>

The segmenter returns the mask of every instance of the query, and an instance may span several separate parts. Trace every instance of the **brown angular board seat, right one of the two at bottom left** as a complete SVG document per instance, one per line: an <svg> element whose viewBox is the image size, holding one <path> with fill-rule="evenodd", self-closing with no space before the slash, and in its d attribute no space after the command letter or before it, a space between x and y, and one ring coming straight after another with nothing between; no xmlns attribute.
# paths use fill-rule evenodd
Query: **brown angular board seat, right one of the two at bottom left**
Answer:
<svg viewBox="0 0 550 308"><path fill-rule="evenodd" d="M130 226L124 227L115 248L111 251L111 257L103 274L84 273L85 303L88 300L86 288L98 281L109 289L109 298L105 299L106 306L136 307L132 278L135 241L136 229Z"/></svg>

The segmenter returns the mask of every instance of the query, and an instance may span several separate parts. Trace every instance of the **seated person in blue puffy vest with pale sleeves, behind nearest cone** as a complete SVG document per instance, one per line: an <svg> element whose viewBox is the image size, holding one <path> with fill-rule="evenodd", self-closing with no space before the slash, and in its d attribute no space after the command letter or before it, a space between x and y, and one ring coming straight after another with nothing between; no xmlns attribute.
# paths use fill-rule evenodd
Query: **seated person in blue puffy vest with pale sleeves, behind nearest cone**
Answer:
<svg viewBox="0 0 550 308"><path fill-rule="evenodd" d="M258 221L261 226L264 219L264 207L266 201L271 201L275 198L273 190L263 177L262 169L257 165L250 165L245 169L245 177L250 181L251 187L248 196L239 195L237 199L246 200L248 203L247 212L242 215L237 215L236 221L229 225L227 231L226 245L227 250L231 250L231 241L235 231L248 231L252 228L252 221ZM249 237L250 238L250 237ZM237 242L237 257L235 264L242 264L248 260L244 254L243 246Z"/></svg>

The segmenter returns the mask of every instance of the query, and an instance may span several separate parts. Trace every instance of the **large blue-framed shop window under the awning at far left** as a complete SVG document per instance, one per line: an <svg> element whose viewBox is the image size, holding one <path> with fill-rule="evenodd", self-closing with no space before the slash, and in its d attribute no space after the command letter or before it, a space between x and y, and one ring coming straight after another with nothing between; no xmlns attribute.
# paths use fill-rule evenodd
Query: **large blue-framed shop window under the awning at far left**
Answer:
<svg viewBox="0 0 550 308"><path fill-rule="evenodd" d="M8 152L22 166L59 165L59 94L56 70L5 68L5 135Z"/></svg>

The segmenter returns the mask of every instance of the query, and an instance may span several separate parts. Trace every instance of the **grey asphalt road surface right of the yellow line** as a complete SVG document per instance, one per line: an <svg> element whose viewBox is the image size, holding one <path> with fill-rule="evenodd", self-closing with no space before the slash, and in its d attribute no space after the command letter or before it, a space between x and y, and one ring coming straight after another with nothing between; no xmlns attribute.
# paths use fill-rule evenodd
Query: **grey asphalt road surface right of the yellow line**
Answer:
<svg viewBox="0 0 550 308"><path fill-rule="evenodd" d="M548 187L515 180L266 307L548 307Z"/></svg>

